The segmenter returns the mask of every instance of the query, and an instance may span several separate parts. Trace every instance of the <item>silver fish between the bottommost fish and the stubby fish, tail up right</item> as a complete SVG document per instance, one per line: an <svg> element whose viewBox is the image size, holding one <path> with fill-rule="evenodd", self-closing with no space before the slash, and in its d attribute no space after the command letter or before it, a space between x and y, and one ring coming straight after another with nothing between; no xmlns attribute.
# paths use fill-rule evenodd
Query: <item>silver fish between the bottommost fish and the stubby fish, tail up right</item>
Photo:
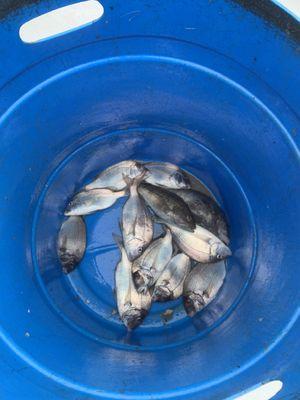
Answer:
<svg viewBox="0 0 300 400"><path fill-rule="evenodd" d="M145 293L154 285L170 261L172 252L172 235L166 229L165 235L154 240L132 265L133 279L139 292Z"/></svg>

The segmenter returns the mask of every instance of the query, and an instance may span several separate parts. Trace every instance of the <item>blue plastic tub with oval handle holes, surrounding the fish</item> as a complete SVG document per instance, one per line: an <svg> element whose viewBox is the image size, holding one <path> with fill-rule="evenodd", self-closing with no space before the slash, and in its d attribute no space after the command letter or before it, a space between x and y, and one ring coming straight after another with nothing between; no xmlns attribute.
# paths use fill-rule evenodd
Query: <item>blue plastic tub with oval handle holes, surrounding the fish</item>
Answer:
<svg viewBox="0 0 300 400"><path fill-rule="evenodd" d="M0 397L225 399L280 379L300 393L300 60L293 38L231 1L109 1L93 25L21 42L40 1L0 23ZM55 241L72 194L126 158L199 177L233 257L193 320L155 305L132 335L114 314L122 201L87 218L63 276Z"/></svg>

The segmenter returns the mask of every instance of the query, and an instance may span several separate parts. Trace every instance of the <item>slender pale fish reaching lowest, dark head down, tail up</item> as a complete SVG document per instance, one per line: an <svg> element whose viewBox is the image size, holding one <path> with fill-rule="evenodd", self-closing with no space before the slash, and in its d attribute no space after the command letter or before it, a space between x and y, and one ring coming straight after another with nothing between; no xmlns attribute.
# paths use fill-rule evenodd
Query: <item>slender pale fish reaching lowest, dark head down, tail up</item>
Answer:
<svg viewBox="0 0 300 400"><path fill-rule="evenodd" d="M117 307L121 320L128 329L141 324L151 307L149 292L138 293L131 273L131 262L122 245L121 238L115 237L121 251L121 260L115 271Z"/></svg>

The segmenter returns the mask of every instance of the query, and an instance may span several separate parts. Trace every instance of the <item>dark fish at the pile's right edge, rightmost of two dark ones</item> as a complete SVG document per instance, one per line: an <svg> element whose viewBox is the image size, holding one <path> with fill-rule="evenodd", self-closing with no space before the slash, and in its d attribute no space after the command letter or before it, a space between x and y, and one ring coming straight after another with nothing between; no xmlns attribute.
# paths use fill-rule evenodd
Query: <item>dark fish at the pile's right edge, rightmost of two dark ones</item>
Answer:
<svg viewBox="0 0 300 400"><path fill-rule="evenodd" d="M217 202L196 190L171 190L188 205L197 225L212 232L226 245L229 244L228 227L224 212Z"/></svg>

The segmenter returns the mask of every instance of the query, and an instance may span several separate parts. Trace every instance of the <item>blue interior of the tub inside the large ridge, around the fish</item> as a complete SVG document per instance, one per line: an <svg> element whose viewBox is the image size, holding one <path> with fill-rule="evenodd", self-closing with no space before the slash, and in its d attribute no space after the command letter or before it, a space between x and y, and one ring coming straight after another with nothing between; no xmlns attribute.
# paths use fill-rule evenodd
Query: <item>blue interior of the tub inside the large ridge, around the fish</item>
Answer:
<svg viewBox="0 0 300 400"><path fill-rule="evenodd" d="M276 337L296 306L287 273L296 214L285 210L296 199L298 159L283 126L245 88L178 59L111 58L37 85L1 130L1 287L14 308L5 327L40 369L106 396L116 387L118 398L171 393L226 379L274 342L272 326ZM205 310L190 319L181 299L157 303L130 335L113 293L123 200L86 217L77 270L65 276L56 255L67 202L125 159L172 162L200 179L226 214L233 253ZM269 319L274 301L280 321ZM168 308L174 317L165 323Z"/></svg>

